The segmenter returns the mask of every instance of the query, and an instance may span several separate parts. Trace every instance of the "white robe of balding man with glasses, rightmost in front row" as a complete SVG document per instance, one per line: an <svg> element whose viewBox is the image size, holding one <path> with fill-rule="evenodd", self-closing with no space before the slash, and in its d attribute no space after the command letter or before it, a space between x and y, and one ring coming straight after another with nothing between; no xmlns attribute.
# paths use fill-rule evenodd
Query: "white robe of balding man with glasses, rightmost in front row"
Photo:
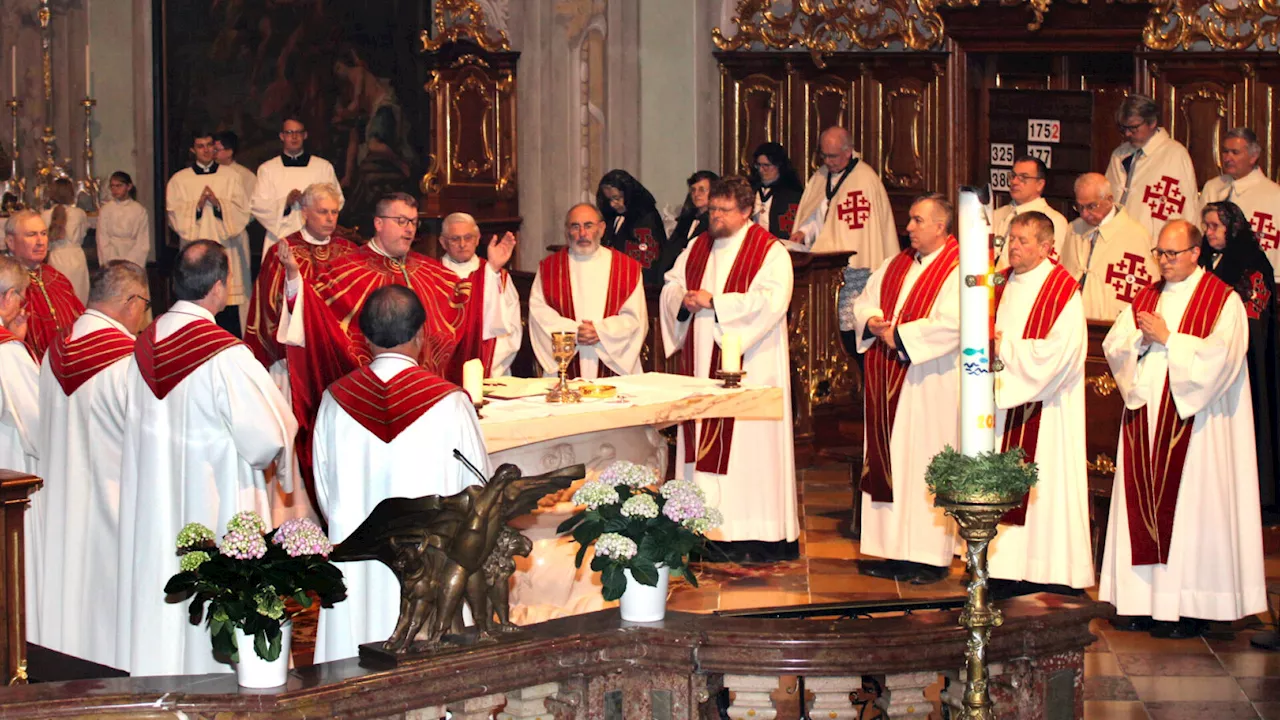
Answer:
<svg viewBox="0 0 1280 720"><path fill-rule="evenodd" d="M1098 600L1115 605L1120 615L1236 620L1267 609L1253 406L1244 369L1248 325L1239 296L1228 288L1207 337L1179 332L1203 275L1198 268L1160 291L1156 311L1171 331L1167 345L1143 342L1132 307L1120 313L1102 343L1125 407L1146 407L1149 438L1156 436L1165 387L1176 418L1193 419L1164 564L1133 560L1121 428L1098 588Z"/></svg>

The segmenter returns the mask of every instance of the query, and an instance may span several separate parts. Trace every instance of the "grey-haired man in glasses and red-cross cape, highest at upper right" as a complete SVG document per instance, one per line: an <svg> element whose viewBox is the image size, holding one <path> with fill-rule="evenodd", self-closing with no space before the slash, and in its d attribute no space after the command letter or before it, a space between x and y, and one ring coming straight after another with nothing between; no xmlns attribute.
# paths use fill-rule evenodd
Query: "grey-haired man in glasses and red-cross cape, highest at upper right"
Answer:
<svg viewBox="0 0 1280 720"><path fill-rule="evenodd" d="M1116 110L1125 142L1111 152L1107 181L1120 205L1129 210L1151 237L1176 218L1199 218L1199 196L1192 156L1156 127L1160 111L1143 95L1130 95Z"/></svg>

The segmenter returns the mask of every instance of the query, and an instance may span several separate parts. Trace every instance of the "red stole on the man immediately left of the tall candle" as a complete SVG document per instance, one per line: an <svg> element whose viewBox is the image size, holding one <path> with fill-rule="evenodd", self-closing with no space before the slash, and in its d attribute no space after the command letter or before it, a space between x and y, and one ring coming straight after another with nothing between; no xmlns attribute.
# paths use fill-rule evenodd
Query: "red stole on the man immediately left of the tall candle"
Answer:
<svg viewBox="0 0 1280 720"><path fill-rule="evenodd" d="M895 319L897 296L906 283L906 273L915 263L916 252L906 249L890 260L881 281L881 313L897 324L927 318L933 310L933 302L942 292L942 284L960 264L960 243L948 237L938 250L938 256L920 273L911 286L902 305L902 313ZM902 395L908 364L899 360L896 350L883 342L874 342L867 351L867 393L865 429L867 448L863 461L861 491L876 502L893 501L893 466L890 459L890 434L893 432L893 419L897 416L897 401Z"/></svg>

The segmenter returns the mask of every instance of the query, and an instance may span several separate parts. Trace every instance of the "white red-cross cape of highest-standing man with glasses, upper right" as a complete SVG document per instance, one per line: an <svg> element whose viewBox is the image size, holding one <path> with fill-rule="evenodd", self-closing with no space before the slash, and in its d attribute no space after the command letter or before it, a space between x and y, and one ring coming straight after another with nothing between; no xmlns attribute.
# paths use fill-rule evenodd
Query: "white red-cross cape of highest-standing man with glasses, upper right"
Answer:
<svg viewBox="0 0 1280 720"><path fill-rule="evenodd" d="M1137 151L1142 156L1134 160ZM1152 240L1160 237L1165 223L1188 218L1199 225L1199 196L1196 168L1183 143L1157 128L1140 149L1124 142L1111 152L1107 181L1116 202L1138 220Z"/></svg>

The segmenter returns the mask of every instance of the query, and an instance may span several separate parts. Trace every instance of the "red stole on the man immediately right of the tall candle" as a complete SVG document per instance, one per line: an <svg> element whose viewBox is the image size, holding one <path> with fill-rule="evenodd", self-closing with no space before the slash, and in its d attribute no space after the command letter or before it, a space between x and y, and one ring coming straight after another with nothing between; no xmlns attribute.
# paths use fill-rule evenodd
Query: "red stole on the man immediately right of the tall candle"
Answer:
<svg viewBox="0 0 1280 720"><path fill-rule="evenodd" d="M1046 260L1052 263L1052 260ZM1000 299L1005 295L1005 287L1014 269L1005 270L1004 284L996 286L996 307L1000 307ZM1053 268L1044 278L1044 284L1036 295L1036 304L1032 305L1032 314L1027 318L1023 328L1023 340L1044 340L1053 328L1062 309L1079 290L1079 283L1066 272L1062 265L1053 263ZM1012 447L1021 447L1028 462L1036 461L1036 443L1039 441L1039 420L1043 402L1025 402L1018 407L1011 407L1005 415L1005 438L1001 441L1000 451L1009 452ZM1009 525L1027 524L1027 501L1030 493L1023 496L1023 503L1014 507L1000 519Z"/></svg>

